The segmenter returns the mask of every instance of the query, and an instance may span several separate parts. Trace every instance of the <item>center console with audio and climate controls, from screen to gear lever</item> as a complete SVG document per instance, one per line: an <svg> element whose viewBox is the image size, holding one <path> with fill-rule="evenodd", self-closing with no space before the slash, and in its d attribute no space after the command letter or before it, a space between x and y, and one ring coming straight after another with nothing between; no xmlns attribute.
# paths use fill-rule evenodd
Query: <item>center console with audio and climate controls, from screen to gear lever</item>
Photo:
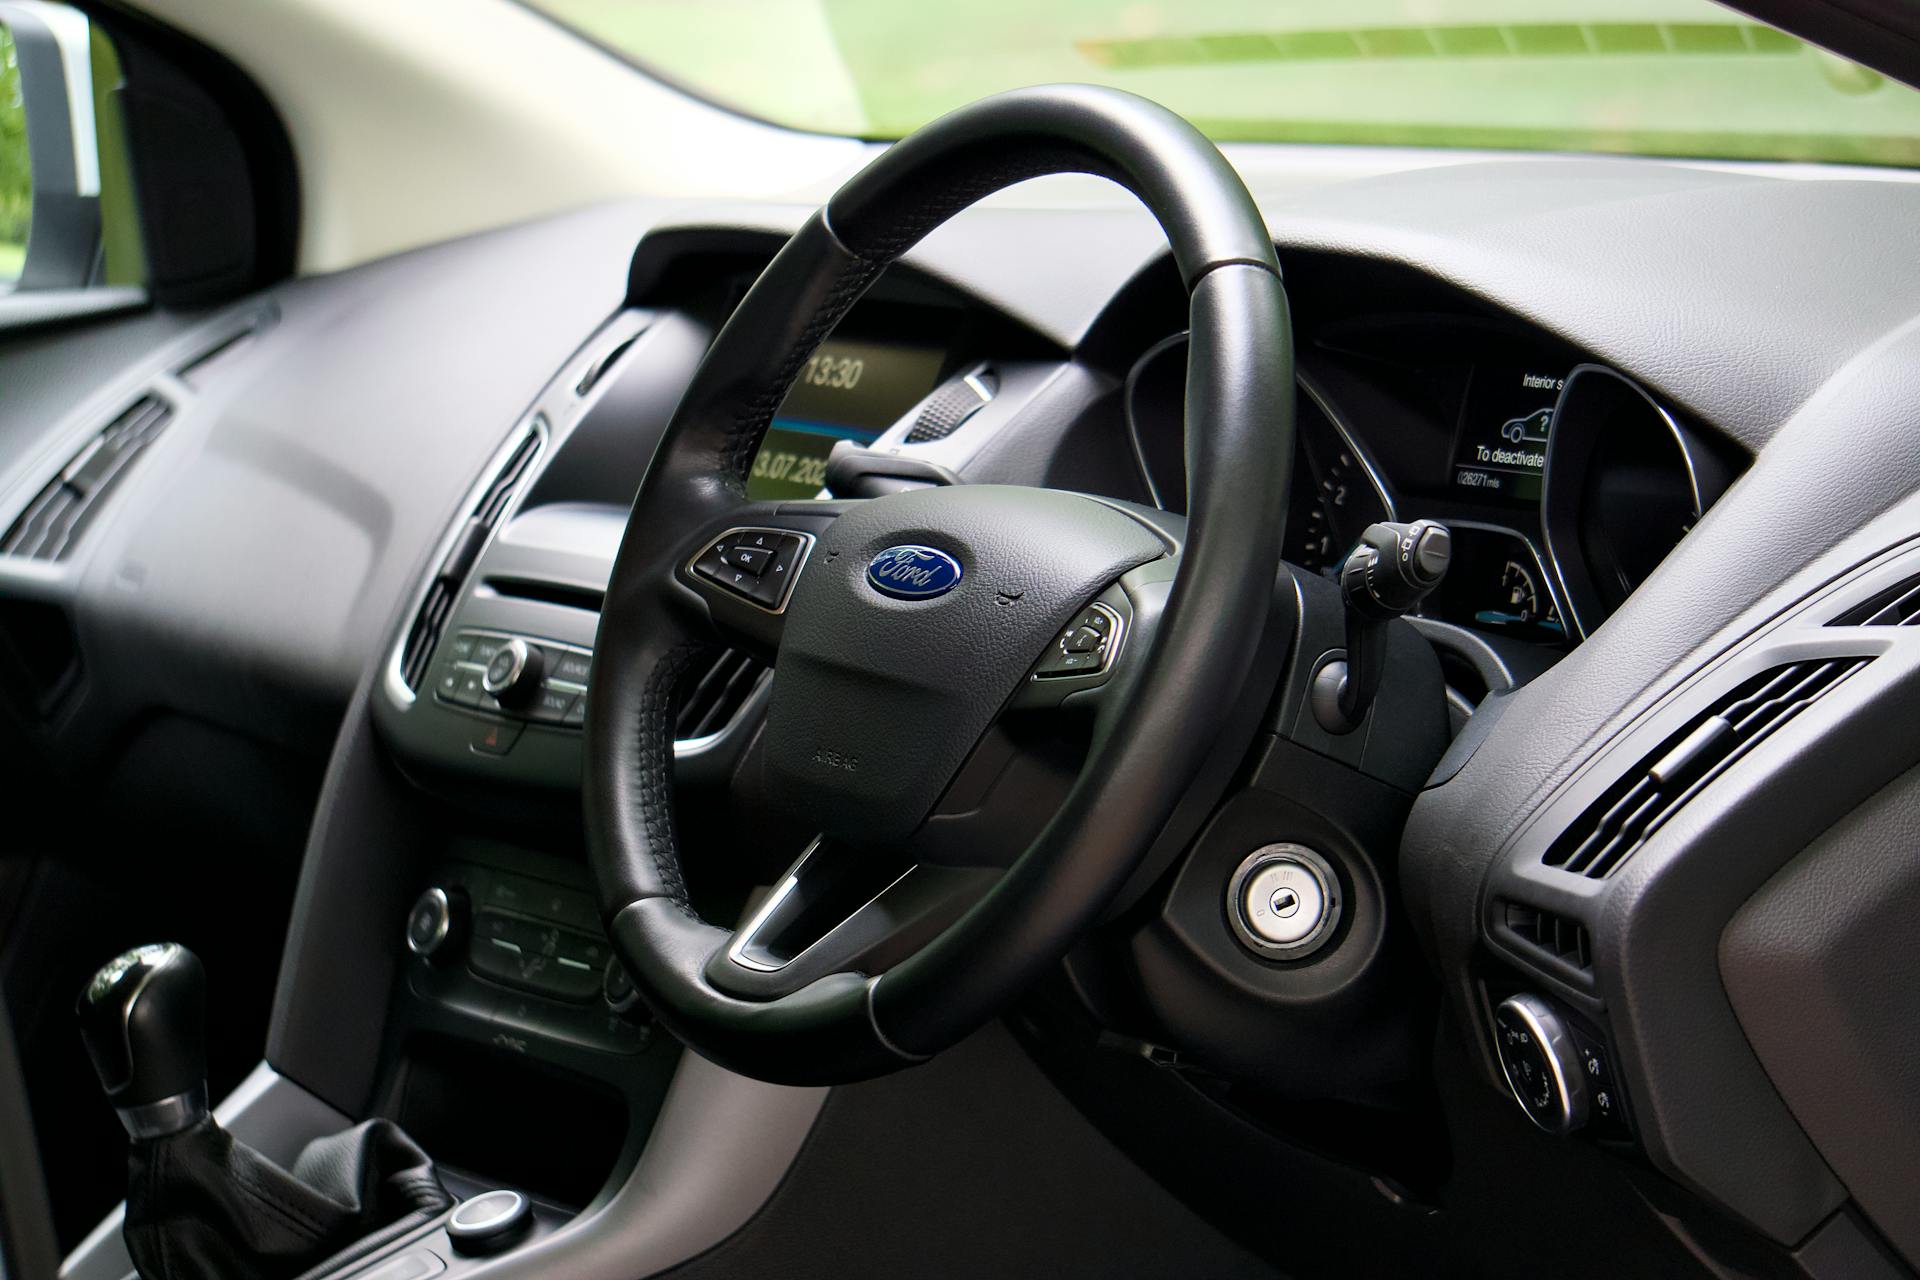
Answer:
<svg viewBox="0 0 1920 1280"><path fill-rule="evenodd" d="M269 1040L275 1102L227 1119L286 1159L271 1138L286 1100L336 1117L328 1128L388 1117L461 1203L328 1272L340 1280L553 1274L563 1253L568 1276L668 1268L760 1209L824 1102L720 1071L651 1025L584 856L601 601L632 493L728 303L624 309L534 397L447 512L342 729ZM987 365L964 311L927 303L881 297L879 332L822 349L778 415L756 495L816 497L829 461L864 491L937 474L1043 391L1054 367ZM747 532L687 572L764 606L803 562L804 545ZM751 654L714 652L678 710L682 839L751 850L708 860L710 912L747 915L806 837L728 802L755 787L770 679ZM123 1268L96 1245L75 1274Z"/></svg>

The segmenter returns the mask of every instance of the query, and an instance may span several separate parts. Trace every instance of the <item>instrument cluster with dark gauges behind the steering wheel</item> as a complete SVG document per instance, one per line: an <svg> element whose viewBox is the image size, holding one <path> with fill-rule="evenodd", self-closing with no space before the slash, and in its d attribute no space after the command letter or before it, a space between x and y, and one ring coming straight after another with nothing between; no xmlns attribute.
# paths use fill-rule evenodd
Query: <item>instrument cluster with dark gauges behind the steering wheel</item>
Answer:
<svg viewBox="0 0 1920 1280"><path fill-rule="evenodd" d="M1394 322L1302 344L1284 557L1331 578L1369 524L1442 520L1453 564L1425 616L1572 647L1699 520L1734 461L1619 370L1448 328L1440 342ZM1183 334L1127 376L1129 441L1167 510L1185 509L1185 382Z"/></svg>

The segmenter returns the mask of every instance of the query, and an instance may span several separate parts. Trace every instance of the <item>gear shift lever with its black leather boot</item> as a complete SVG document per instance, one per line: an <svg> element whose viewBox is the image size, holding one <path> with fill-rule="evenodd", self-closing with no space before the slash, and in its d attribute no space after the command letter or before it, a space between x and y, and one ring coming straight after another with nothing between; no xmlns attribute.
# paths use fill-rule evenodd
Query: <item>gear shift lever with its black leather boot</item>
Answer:
<svg viewBox="0 0 1920 1280"><path fill-rule="evenodd" d="M81 992L79 1015L132 1138L125 1232L142 1280L292 1280L453 1205L392 1121L315 1138L292 1169L221 1128L207 1113L207 977L184 946L117 956Z"/></svg>

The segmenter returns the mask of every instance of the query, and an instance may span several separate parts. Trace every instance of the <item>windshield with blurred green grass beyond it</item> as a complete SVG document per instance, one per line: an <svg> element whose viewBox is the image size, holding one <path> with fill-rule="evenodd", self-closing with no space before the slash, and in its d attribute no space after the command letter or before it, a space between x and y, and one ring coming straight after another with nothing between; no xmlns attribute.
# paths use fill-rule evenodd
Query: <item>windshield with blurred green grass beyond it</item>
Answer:
<svg viewBox="0 0 1920 1280"><path fill-rule="evenodd" d="M897 138L1020 84L1221 142L1920 165L1920 92L1709 0L528 0L797 129Z"/></svg>

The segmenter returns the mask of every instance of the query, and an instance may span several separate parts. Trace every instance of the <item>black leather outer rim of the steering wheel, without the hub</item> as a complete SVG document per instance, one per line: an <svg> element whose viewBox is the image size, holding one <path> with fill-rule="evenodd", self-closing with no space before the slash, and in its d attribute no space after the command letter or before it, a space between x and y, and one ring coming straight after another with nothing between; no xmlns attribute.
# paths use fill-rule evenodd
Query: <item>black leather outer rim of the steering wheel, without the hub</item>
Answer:
<svg viewBox="0 0 1920 1280"><path fill-rule="evenodd" d="M1165 230L1188 292L1188 522L1158 629L1133 654L1127 697L1096 727L1058 814L931 942L881 973L829 973L766 1000L718 990L707 971L732 933L693 912L672 816L674 695L718 643L687 564L714 530L781 514L747 501L747 468L799 368L874 278L960 209L1050 173L1129 188ZM1273 242L1219 150L1171 111L1092 86L1016 90L933 121L851 178L707 351L639 487L601 614L586 723L589 860L612 942L655 1015L745 1075L845 1082L924 1061L1056 963L1140 862L1240 695L1281 572L1292 418ZM1087 499L1029 493L1050 495L1033 509L1060 507L1071 520L1129 520ZM973 493L947 507L993 501ZM939 510L931 499L897 507L914 520ZM1104 526L1100 535L1127 537ZM1142 555L1129 543L1091 572L1112 576ZM806 568L795 614L828 574L822 562ZM876 626L914 622L889 606L899 616L876 612Z"/></svg>

